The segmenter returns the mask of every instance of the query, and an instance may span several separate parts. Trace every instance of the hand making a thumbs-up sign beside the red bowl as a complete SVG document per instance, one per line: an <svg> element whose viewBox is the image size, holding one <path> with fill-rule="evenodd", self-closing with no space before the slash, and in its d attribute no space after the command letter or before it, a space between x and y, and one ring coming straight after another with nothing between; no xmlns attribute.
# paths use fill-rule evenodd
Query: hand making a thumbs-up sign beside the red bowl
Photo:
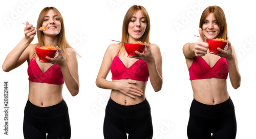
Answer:
<svg viewBox="0 0 256 139"><path fill-rule="evenodd" d="M198 41L195 43L194 51L197 57L202 57L207 54L209 44L205 42L204 33L201 28L199 28L199 34L200 39L198 39Z"/></svg>

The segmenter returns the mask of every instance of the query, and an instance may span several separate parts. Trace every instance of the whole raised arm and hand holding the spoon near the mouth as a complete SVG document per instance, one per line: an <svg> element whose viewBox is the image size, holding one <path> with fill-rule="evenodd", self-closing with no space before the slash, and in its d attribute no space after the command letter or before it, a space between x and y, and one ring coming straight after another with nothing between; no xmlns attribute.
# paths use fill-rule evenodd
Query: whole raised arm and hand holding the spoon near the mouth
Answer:
<svg viewBox="0 0 256 139"><path fill-rule="evenodd" d="M34 44L30 44L34 39L36 31L31 28L33 25L26 21L27 26L24 29L25 37L17 44L17 46L7 55L2 68L3 71L9 72L12 69L23 64L30 55L31 50L35 47Z"/></svg>

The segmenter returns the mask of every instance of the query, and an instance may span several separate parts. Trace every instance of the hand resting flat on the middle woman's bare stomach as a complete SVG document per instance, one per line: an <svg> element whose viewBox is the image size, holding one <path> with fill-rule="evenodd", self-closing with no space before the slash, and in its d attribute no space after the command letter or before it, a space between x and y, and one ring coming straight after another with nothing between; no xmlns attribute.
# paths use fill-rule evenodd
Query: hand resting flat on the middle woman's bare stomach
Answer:
<svg viewBox="0 0 256 139"><path fill-rule="evenodd" d="M123 80L122 82L117 83L118 90L126 96L135 98L135 96L140 97L141 95L143 95L143 90L133 85L136 83L136 81Z"/></svg>

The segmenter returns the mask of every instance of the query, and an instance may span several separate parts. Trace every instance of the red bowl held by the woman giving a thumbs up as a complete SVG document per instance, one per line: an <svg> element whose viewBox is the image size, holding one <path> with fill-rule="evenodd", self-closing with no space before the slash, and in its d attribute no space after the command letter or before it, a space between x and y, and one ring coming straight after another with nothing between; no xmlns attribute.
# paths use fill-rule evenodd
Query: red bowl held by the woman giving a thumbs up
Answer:
<svg viewBox="0 0 256 139"><path fill-rule="evenodd" d="M217 48L224 50L227 47L227 42L220 40L206 39L209 44L209 51L214 53L221 53Z"/></svg>

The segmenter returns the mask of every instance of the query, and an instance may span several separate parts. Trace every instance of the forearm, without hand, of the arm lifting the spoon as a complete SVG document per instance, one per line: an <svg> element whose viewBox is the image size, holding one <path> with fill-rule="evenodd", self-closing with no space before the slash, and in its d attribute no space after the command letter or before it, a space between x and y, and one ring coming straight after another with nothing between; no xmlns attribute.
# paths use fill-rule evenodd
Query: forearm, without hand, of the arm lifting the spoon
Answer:
<svg viewBox="0 0 256 139"><path fill-rule="evenodd" d="M7 55L2 68L3 71L9 72L12 69L16 68L15 65L18 62L18 59L26 50L30 42L25 39L25 37L17 44L17 46Z"/></svg>

